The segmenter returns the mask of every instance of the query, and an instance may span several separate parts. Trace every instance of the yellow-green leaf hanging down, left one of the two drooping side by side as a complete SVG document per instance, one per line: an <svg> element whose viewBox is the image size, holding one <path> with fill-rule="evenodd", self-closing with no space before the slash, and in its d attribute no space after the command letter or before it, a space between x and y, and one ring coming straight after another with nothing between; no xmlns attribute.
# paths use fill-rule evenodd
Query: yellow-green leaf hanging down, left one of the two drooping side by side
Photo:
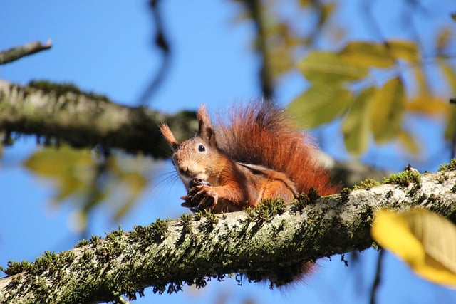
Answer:
<svg viewBox="0 0 456 304"><path fill-rule="evenodd" d="M343 140L350 154L363 154L368 148L371 133L371 98L375 88L363 90L356 98L342 123Z"/></svg>

